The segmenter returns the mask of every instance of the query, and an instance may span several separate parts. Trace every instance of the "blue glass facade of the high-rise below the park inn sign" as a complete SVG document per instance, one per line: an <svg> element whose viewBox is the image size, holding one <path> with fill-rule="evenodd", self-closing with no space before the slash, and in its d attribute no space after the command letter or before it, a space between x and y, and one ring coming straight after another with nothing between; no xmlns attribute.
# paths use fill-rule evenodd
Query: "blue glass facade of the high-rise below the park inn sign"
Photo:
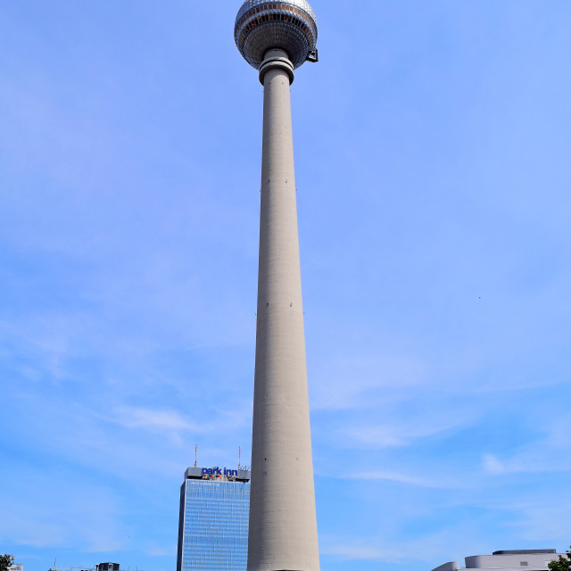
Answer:
<svg viewBox="0 0 571 571"><path fill-rule="evenodd" d="M245 571L250 483L186 479L180 489L177 571Z"/></svg>

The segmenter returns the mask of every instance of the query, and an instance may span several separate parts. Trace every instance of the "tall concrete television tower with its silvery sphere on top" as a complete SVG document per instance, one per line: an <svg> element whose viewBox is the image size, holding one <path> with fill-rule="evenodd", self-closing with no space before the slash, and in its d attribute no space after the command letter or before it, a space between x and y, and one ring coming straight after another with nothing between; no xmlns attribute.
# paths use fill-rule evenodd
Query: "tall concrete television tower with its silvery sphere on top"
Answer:
<svg viewBox="0 0 571 571"><path fill-rule="evenodd" d="M290 104L317 21L305 0L246 0L234 37L264 87L248 571L319 571Z"/></svg>

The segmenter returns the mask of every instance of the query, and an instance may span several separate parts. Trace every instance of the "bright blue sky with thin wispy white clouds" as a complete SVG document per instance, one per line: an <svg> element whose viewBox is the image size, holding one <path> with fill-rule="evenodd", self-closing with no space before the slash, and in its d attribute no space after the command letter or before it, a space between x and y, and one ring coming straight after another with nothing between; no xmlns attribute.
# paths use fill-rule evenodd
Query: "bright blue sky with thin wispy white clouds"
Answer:
<svg viewBox="0 0 571 571"><path fill-rule="evenodd" d="M571 542L571 4L314 0L292 89L323 571ZM172 571L250 455L239 2L0 4L0 551Z"/></svg>

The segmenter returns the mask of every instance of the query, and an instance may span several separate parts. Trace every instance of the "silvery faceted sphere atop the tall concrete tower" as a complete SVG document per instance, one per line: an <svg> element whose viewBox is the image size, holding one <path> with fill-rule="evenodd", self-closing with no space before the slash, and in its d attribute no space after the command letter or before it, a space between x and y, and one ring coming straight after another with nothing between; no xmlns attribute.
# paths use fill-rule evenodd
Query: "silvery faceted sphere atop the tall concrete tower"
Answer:
<svg viewBox="0 0 571 571"><path fill-rule="evenodd" d="M256 70L272 48L284 50L296 69L315 49L318 23L306 0L246 0L236 16L234 39Z"/></svg>

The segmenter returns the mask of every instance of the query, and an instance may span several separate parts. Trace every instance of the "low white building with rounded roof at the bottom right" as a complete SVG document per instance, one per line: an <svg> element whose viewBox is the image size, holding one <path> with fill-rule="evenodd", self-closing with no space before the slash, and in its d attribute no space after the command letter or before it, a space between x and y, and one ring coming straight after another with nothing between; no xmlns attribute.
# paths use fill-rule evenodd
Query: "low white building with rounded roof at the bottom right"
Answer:
<svg viewBox="0 0 571 571"><path fill-rule="evenodd" d="M561 553L564 557L565 553ZM465 569L501 569L501 571L547 571L551 561L559 559L556 550L504 550L492 555L471 555L464 559L466 567L458 561L444 563L433 571L459 571ZM571 561L569 562L571 564ZM571 568L571 567L570 567Z"/></svg>

